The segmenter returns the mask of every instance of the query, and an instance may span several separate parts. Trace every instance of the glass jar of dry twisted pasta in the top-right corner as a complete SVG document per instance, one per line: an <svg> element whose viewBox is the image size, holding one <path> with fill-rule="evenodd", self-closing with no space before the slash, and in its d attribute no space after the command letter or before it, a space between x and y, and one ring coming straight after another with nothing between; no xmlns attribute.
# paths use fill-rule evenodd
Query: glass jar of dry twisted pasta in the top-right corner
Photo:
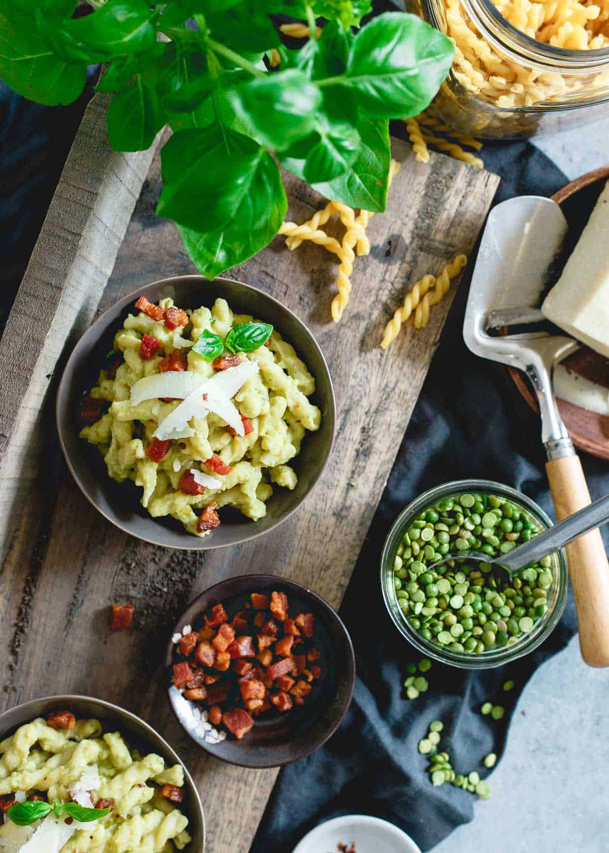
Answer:
<svg viewBox="0 0 609 853"><path fill-rule="evenodd" d="M455 42L432 118L480 139L609 114L609 0L409 0Z"/></svg>

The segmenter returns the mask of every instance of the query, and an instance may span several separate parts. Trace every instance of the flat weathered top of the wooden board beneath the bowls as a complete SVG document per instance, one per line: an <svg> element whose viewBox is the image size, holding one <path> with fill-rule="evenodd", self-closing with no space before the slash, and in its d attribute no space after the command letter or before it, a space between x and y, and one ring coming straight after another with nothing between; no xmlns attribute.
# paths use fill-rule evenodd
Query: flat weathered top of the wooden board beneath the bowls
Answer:
<svg viewBox="0 0 609 853"><path fill-rule="evenodd" d="M308 584L338 606L415 406L450 309L452 293L432 309L428 328L407 324L392 348L382 331L404 293L422 274L441 270L456 252L471 252L498 179L432 154L415 163L396 143L403 167L386 214L372 219L372 252L357 258L351 303L338 326L329 319L337 264L321 247L288 252L276 238L229 276L263 288L294 310L328 358L337 393L337 438L316 490L278 531L231 549L178 552L125 537L110 527L47 454L46 512L21 525L5 560L2 704L45 693L80 691L136 711L177 748L200 786L208 850L246 853L276 779L205 757L173 719L159 680L171 627L201 590L239 573L273 572ZM286 176L289 218L302 222L323 200ZM159 164L154 161L108 282L100 310L144 282L193 272L173 225L154 218ZM202 201L204 203L204 201ZM42 520L41 520L42 519ZM32 539L34 545L32 547ZM373 578L375 577L375 574ZM374 579L371 583L374 583ZM13 590L12 592L10 590ZM108 606L131 601L129 633L111 635ZM52 606L51 606L52 602Z"/></svg>

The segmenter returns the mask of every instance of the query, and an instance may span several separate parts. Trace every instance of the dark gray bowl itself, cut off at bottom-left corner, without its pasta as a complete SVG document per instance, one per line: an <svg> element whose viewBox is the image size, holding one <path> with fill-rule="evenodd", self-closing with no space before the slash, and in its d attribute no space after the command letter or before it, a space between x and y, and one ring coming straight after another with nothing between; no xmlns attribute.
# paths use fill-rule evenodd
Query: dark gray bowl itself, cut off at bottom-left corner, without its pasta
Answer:
<svg viewBox="0 0 609 853"><path fill-rule="evenodd" d="M44 699L32 699L31 702L16 705L9 711L0 714L0 740L9 737L16 728L25 722L30 722L35 717L47 717L51 711L58 710L72 711L75 717L81 719L94 717L102 722L107 730L118 730L129 740L132 746L136 746L140 751L156 752L157 755L165 758L166 763L182 764L184 767L185 797L180 809L188 817L188 832L193 839L188 847L184 848L184 853L204 853L205 816L203 815L199 792L192 776L188 773L188 769L184 766L177 752L171 749L167 741L163 740L160 734L148 725L148 722L144 722L135 714L131 714L130 711L125 711L125 709L119 708L119 705L104 702L103 699L94 699L91 696L68 694L67 696L47 696Z"/></svg>

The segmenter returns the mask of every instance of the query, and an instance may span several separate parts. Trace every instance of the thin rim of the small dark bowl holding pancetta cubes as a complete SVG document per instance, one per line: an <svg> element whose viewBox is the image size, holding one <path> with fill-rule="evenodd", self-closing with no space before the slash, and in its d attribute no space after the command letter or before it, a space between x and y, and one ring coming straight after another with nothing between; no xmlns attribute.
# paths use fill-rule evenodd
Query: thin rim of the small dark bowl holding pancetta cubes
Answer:
<svg viewBox="0 0 609 853"><path fill-rule="evenodd" d="M252 763L248 763L248 762L234 761L234 760L231 760L225 756L218 755L215 751L213 751L212 748L210 748L214 745L204 746L203 744L201 744L200 740L197 740L196 738L194 738L193 734L191 734L188 731L188 728L186 728L183 725L182 720L178 716L177 711L176 711L176 707L175 707L173 701L171 700L170 688L167 688L167 698L169 700L169 704L171 705L171 711L173 711L174 716L177 719L177 722L179 722L179 724L182 726L183 730L186 732L186 734L188 734L188 737L191 740L194 740L194 743L197 746L199 746L200 749L208 752L209 755L212 755L214 758L217 758L219 761L223 761L224 763L227 763L227 764L233 764L236 767L246 767L247 769L257 769L257 770L258 769L269 769L269 768L273 768L273 767L283 767L286 764L292 764L293 762L299 761L301 758L305 758L306 756L310 755L311 752L314 752L314 751L316 751L316 749L319 749L320 746L323 746L323 744L325 744L326 741L332 737L332 735L334 734L336 729L339 728L340 723L343 722L343 720L345 719L346 712L349 710L349 707L351 705L351 700L353 699L353 692L355 690L356 658L355 658L355 651L353 649L353 642L351 641L351 635L349 634L349 631L346 629L345 623L339 617L339 614L334 610L334 607L329 605L328 601L323 599L321 595L318 595L316 592L313 592L312 589L309 589L309 587L306 587L304 584L298 583L297 581L293 581L288 577L281 577L281 575L253 574L253 575L235 575L235 577L225 577L223 581L219 581L218 583L214 583L213 586L208 587L207 589L204 589L203 592L200 593L200 595L197 595L197 597L193 601L191 601L190 604L188 605L188 607L184 610L184 612L182 613L180 618L177 619L176 624L173 626L173 629L171 630L171 636L170 636L169 642L167 643L167 650L165 652L165 661L163 664L163 676L165 677L165 682L166 682L167 670L169 669L169 667L171 666L171 664L173 662L175 645L171 641L171 637L174 634L181 632L181 628L180 628L181 625L188 624L188 623L194 624L194 612L197 615L200 615L200 613L203 612L202 609L199 607L200 600L204 597L207 597L208 595L211 595L216 590L221 589L222 587L224 587L227 584L235 583L237 581L243 581L243 580L248 580L248 581L251 580L252 581L252 587L257 585L257 584L258 584L258 587L261 585L266 587L266 586L271 586L273 583L276 583L277 586L284 586L284 587L287 587L288 589L292 589L292 591L294 593L301 595L304 598L310 599L315 604L315 606L319 607L323 612L327 613L328 616L331 619L333 619L334 622L338 625L339 632L345 639L346 652L347 652L347 657L349 659L348 677L349 677L349 681L350 681L349 691L347 693L345 703L343 705L343 708L340 711L338 719L328 729L328 731L323 732L322 736L316 740L316 743L313 746L309 746L305 750L298 751L297 754L295 754L293 757L291 757L285 761L281 761L280 763L262 763L262 764L256 763L256 764L252 764ZM227 592L225 595L223 595L223 596L217 595L217 597L218 598L223 597L224 599L226 599L226 598L229 598L230 595L231 595L231 593ZM191 612L193 612L193 613L191 613ZM188 619L187 619L187 614L191 614L188 616Z"/></svg>

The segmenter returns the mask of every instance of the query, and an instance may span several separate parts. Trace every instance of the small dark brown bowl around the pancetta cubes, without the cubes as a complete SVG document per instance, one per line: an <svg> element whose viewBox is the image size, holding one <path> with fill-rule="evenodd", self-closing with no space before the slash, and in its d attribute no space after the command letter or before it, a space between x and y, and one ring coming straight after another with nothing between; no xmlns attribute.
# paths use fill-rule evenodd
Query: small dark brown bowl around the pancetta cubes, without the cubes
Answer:
<svg viewBox="0 0 609 853"><path fill-rule="evenodd" d="M254 727L241 739L228 735L218 744L206 743L204 736L194 730L193 711L200 703L184 699L171 683L172 665L177 659L177 647L170 640L165 654L165 682L171 708L186 733L202 749L229 764L241 767L279 767L298 761L334 734L351 704L355 686L355 656L351 637L339 615L326 601L300 583L275 575L245 575L229 577L195 598L178 619L173 634L182 632L185 625L200 627L203 614L213 605L222 603L227 611L239 610L241 601L252 592L276 590L285 592L290 614L311 612L316 621L315 645L322 652L319 664L322 676L313 682L313 692L300 707L280 713L267 711L260 715ZM232 606L231 606L232 604ZM222 730L222 726L217 727Z"/></svg>

